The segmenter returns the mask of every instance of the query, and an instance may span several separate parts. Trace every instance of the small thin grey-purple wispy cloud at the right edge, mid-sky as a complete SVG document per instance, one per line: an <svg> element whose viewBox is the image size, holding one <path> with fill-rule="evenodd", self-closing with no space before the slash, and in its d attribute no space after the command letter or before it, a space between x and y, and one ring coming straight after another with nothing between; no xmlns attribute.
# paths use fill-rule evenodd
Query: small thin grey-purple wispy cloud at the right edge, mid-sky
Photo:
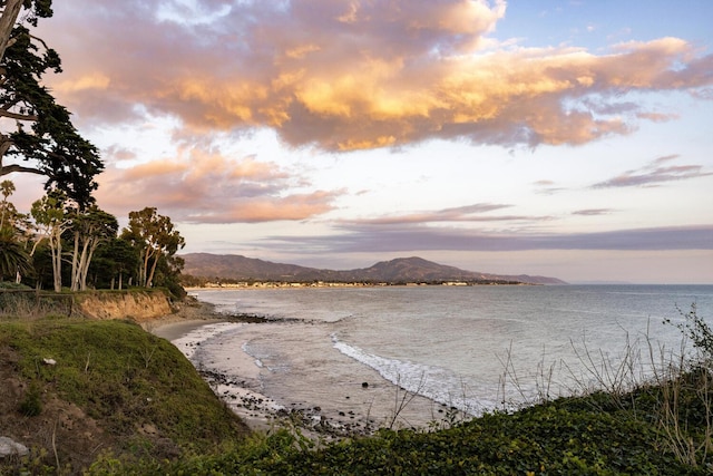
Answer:
<svg viewBox="0 0 713 476"><path fill-rule="evenodd" d="M713 175L702 165L664 165L676 159L677 155L660 157L651 164L634 171L626 171L616 177L592 185L593 188L657 186L665 182L684 181Z"/></svg>

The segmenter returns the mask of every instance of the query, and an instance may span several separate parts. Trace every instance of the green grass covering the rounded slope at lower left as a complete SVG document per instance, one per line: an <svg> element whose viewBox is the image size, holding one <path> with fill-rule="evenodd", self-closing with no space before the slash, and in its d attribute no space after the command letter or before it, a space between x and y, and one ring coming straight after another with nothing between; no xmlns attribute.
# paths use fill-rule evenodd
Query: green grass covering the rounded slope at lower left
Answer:
<svg viewBox="0 0 713 476"><path fill-rule="evenodd" d="M42 400L57 396L96 420L114 441L105 450L125 460L209 453L248 434L178 349L135 323L14 320L0 323L2 347L20 356L28 389L18 416L47 418Z"/></svg>

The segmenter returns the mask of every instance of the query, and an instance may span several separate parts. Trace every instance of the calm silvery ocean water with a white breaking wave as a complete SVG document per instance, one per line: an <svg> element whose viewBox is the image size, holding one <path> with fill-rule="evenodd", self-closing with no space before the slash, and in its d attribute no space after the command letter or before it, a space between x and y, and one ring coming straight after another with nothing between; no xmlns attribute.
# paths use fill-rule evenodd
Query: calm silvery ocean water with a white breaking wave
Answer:
<svg viewBox="0 0 713 476"><path fill-rule="evenodd" d="M432 404L433 415L442 408L478 415L540 395L626 385L692 350L664 319L683 322L680 311L695 304L697 314L713 326L712 285L300 288L193 294L228 314L270 319L219 328L192 354L196 366L231 376L279 406L318 408L352 419L388 419L411 394ZM423 412L422 407L416 410Z"/></svg>

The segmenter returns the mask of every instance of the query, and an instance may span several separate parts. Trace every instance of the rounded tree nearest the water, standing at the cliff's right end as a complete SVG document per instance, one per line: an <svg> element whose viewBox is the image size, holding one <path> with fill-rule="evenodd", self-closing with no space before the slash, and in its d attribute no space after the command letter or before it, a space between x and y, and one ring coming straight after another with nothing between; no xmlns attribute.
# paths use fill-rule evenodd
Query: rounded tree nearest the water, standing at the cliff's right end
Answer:
<svg viewBox="0 0 713 476"><path fill-rule="evenodd" d="M139 282L145 288L153 285L159 259L172 258L186 244L178 231L174 230L170 218L157 214L156 208L149 206L129 213L129 226L123 231L121 237L140 251Z"/></svg>

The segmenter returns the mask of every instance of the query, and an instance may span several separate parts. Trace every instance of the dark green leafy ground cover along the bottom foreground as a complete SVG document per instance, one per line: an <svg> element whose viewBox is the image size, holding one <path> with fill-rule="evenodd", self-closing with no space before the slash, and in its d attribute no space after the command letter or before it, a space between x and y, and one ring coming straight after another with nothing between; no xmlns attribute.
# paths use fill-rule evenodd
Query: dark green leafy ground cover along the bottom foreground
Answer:
<svg viewBox="0 0 713 476"><path fill-rule="evenodd" d="M596 398L596 397L594 397ZM496 412L427 433L382 429L377 436L304 448L280 430L231 453L197 455L123 474L213 475L704 475L662 445L656 425L623 410L595 410L588 397L566 398L515 414ZM651 409L651 407L649 407ZM99 470L95 474L107 474ZM115 467L115 469L117 469ZM91 473L91 472L90 472Z"/></svg>

